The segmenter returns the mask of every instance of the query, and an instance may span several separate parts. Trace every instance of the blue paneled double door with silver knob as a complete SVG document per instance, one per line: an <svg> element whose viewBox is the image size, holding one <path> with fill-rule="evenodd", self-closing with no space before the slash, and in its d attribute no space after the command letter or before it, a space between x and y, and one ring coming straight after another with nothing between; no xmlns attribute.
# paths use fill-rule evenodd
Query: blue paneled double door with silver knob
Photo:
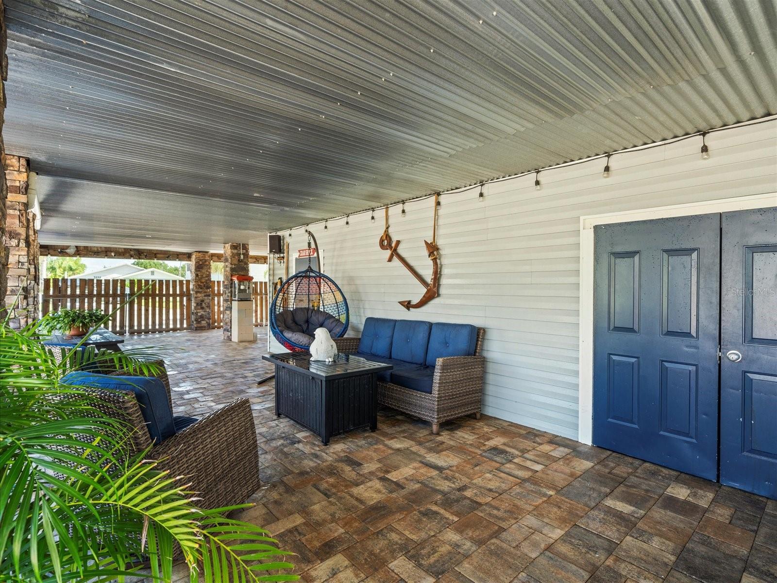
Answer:
<svg viewBox="0 0 777 583"><path fill-rule="evenodd" d="M777 208L594 228L594 445L777 497Z"/></svg>

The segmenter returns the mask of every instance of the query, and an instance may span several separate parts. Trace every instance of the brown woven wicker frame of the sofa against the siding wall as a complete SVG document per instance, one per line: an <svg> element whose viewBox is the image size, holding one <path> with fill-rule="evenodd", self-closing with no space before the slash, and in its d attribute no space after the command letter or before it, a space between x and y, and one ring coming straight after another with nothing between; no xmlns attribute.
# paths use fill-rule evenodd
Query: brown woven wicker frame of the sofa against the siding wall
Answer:
<svg viewBox="0 0 777 583"><path fill-rule="evenodd" d="M392 407L432 424L432 433L440 432L440 424L457 417L474 414L480 418L483 397L483 374L486 359L480 355L483 349L484 328L478 328L474 356L437 358L431 393L378 380L378 403ZM356 352L358 337L333 338L340 352ZM367 357L369 358L369 357Z"/></svg>

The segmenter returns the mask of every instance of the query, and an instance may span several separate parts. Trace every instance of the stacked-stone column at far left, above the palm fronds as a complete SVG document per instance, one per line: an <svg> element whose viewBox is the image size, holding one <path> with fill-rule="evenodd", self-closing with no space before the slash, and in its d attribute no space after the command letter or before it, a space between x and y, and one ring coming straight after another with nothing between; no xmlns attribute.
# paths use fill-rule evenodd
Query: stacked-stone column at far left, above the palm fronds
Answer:
<svg viewBox="0 0 777 583"><path fill-rule="evenodd" d="M7 257L5 306L12 308L11 326L21 328L38 316L38 234L35 213L28 210L29 161L6 155L3 163L5 200L4 253Z"/></svg>

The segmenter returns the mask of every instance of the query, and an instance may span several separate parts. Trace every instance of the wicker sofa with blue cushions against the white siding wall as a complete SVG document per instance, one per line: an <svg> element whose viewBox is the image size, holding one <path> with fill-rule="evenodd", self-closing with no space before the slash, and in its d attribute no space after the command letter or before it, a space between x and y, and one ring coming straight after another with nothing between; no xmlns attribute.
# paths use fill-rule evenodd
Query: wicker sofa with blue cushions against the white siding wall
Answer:
<svg viewBox="0 0 777 583"><path fill-rule="evenodd" d="M334 341L340 352L394 365L378 374L378 402L429 421L437 435L444 421L480 418L485 333L465 324L368 318L362 337Z"/></svg>

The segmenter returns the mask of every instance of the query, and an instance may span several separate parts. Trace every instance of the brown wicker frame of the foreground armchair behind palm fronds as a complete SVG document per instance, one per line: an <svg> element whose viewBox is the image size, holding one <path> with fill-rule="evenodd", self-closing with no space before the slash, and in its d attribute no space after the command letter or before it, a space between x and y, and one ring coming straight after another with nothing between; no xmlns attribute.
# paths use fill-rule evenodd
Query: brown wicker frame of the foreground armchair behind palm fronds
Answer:
<svg viewBox="0 0 777 583"><path fill-rule="evenodd" d="M162 361L155 363L167 401L172 410L169 377ZM110 375L128 375L113 371ZM146 421L134 393L112 389L95 391L101 403L100 413L120 419L136 428L131 434L131 452L151 447L149 459L161 460L160 470L169 470L172 476L184 476L190 490L201 498L201 508L221 508L242 504L259 490L259 449L256 444L256 426L248 399L228 403L200 419L173 417L175 435L152 446Z"/></svg>

